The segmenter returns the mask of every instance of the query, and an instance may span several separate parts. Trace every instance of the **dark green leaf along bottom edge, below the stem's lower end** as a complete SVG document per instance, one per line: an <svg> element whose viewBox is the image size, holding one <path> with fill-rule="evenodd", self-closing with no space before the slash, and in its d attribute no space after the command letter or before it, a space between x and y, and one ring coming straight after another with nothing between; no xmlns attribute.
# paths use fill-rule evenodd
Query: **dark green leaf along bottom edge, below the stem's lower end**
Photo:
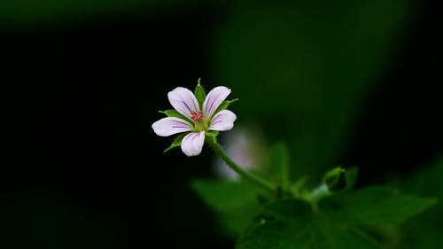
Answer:
<svg viewBox="0 0 443 249"><path fill-rule="evenodd" d="M237 249L375 249L377 243L360 231L313 213L297 199L278 200L263 207L262 219L237 240Z"/></svg>

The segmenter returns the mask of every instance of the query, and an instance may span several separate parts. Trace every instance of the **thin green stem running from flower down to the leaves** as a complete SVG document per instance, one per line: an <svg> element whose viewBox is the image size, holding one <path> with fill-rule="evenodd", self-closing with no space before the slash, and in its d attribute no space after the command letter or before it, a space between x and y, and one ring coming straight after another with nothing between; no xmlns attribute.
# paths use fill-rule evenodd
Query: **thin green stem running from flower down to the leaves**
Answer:
<svg viewBox="0 0 443 249"><path fill-rule="evenodd" d="M260 178L259 175L253 175L252 172L245 171L242 167L239 167L237 163L229 158L229 156L224 152L224 150L221 148L220 144L217 143L214 137L208 137L207 142L211 147L213 148L214 152L217 153L221 160L224 160L226 164L232 170L234 170L238 175L241 175L245 179L259 185L260 187L266 189L267 191L270 191L272 193L276 192L276 188L271 183L268 183L266 180Z"/></svg>

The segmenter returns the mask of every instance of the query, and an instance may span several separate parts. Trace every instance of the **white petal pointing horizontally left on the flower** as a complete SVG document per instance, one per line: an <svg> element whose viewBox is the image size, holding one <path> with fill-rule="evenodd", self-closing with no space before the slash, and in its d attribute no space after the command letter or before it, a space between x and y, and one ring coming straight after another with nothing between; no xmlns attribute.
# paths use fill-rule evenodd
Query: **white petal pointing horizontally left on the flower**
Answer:
<svg viewBox="0 0 443 249"><path fill-rule="evenodd" d="M179 118L167 117L152 124L152 129L159 136L171 136L180 132L189 131L192 125Z"/></svg>

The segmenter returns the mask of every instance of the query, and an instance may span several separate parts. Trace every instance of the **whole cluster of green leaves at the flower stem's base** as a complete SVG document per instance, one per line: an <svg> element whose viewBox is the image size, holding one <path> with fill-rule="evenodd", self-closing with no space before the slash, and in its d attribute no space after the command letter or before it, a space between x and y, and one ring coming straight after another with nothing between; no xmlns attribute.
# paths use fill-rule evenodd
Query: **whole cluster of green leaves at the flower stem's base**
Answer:
<svg viewBox="0 0 443 249"><path fill-rule="evenodd" d="M354 167L349 173L341 167L328 171L325 176L342 175L344 186L332 195L326 191L314 198L319 189L300 185L303 178L294 182L276 177L288 175L290 162L284 144L273 146L268 158L268 170L263 174L276 183L273 194L243 179L192 182L193 190L216 212L226 234L239 236L237 248L381 248L378 243L387 243L380 236L393 238L380 225L405 222L436 203L433 198L407 196L389 187L353 191L357 175ZM325 184L324 179L328 177L323 177L320 186ZM284 195L279 190L294 192ZM369 237L371 230L378 241Z"/></svg>

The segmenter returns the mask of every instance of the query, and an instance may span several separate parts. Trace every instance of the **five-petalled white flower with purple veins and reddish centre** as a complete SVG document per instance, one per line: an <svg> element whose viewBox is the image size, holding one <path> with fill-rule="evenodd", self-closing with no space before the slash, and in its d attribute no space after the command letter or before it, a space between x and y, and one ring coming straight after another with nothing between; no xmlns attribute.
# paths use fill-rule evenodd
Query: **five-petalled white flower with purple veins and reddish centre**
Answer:
<svg viewBox="0 0 443 249"><path fill-rule="evenodd" d="M234 127L236 114L229 110L217 112L217 108L228 97L230 89L216 87L212 89L203 101L200 109L197 97L190 91L178 87L167 93L169 102L174 109L183 115L167 117L152 124L152 129L159 136L171 136L177 133L189 132L182 140L182 151L187 156L200 154L205 143L205 132L208 130L225 131Z"/></svg>

